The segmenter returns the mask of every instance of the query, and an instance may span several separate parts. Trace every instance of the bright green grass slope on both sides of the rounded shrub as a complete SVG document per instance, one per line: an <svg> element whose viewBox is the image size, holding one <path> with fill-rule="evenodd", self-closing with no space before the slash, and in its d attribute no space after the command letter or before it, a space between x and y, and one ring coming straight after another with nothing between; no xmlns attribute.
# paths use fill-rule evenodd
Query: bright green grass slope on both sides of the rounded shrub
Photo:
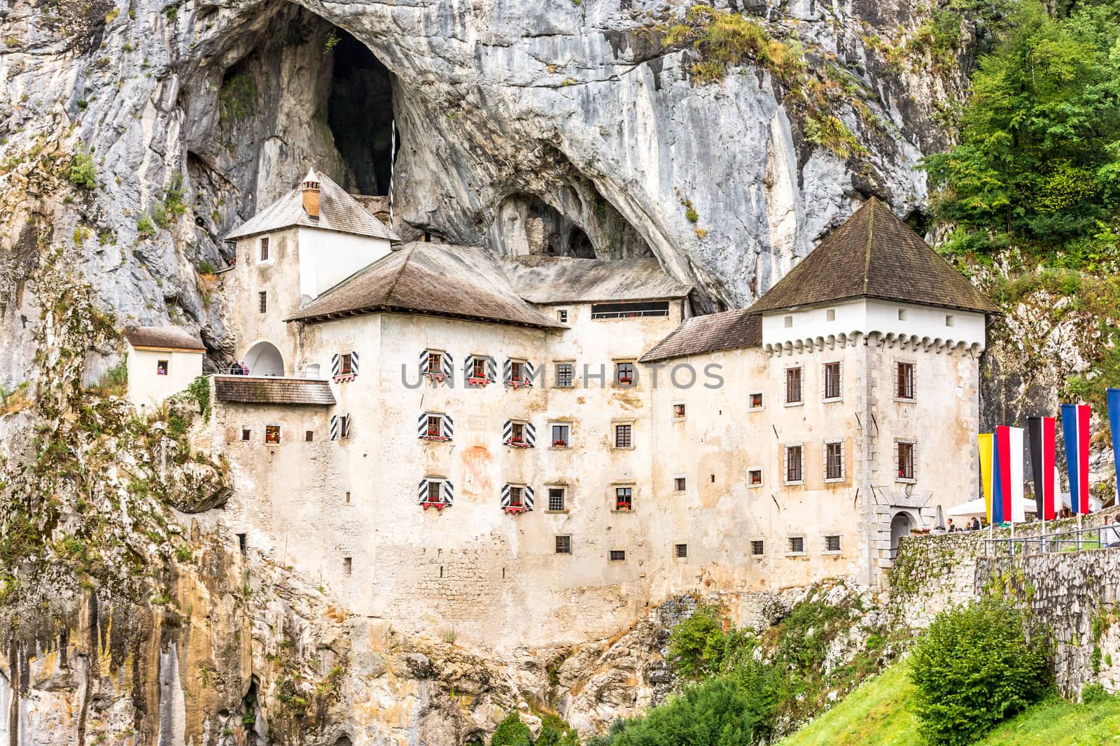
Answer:
<svg viewBox="0 0 1120 746"><path fill-rule="evenodd" d="M898 663L851 692L778 746L923 746L907 708L913 687ZM1001 724L978 746L1120 746L1120 698L1077 705L1053 698Z"/></svg>

